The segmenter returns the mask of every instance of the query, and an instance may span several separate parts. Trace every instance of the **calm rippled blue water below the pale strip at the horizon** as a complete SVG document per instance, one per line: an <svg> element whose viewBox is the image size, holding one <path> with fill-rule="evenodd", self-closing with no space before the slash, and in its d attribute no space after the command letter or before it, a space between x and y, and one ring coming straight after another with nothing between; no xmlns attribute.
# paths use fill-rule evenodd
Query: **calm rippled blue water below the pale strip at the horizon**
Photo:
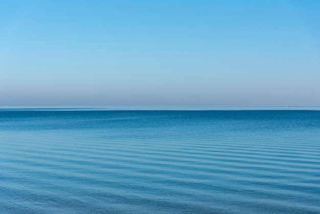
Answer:
<svg viewBox="0 0 320 214"><path fill-rule="evenodd" d="M1 213L320 213L320 111L0 111Z"/></svg>

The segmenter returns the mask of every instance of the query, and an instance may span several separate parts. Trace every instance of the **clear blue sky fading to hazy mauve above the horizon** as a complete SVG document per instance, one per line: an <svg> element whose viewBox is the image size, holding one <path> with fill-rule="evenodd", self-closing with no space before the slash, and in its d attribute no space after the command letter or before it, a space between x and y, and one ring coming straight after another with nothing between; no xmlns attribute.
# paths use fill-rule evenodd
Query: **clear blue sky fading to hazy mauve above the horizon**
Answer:
<svg viewBox="0 0 320 214"><path fill-rule="evenodd" d="M320 1L0 0L0 105L320 104Z"/></svg>

